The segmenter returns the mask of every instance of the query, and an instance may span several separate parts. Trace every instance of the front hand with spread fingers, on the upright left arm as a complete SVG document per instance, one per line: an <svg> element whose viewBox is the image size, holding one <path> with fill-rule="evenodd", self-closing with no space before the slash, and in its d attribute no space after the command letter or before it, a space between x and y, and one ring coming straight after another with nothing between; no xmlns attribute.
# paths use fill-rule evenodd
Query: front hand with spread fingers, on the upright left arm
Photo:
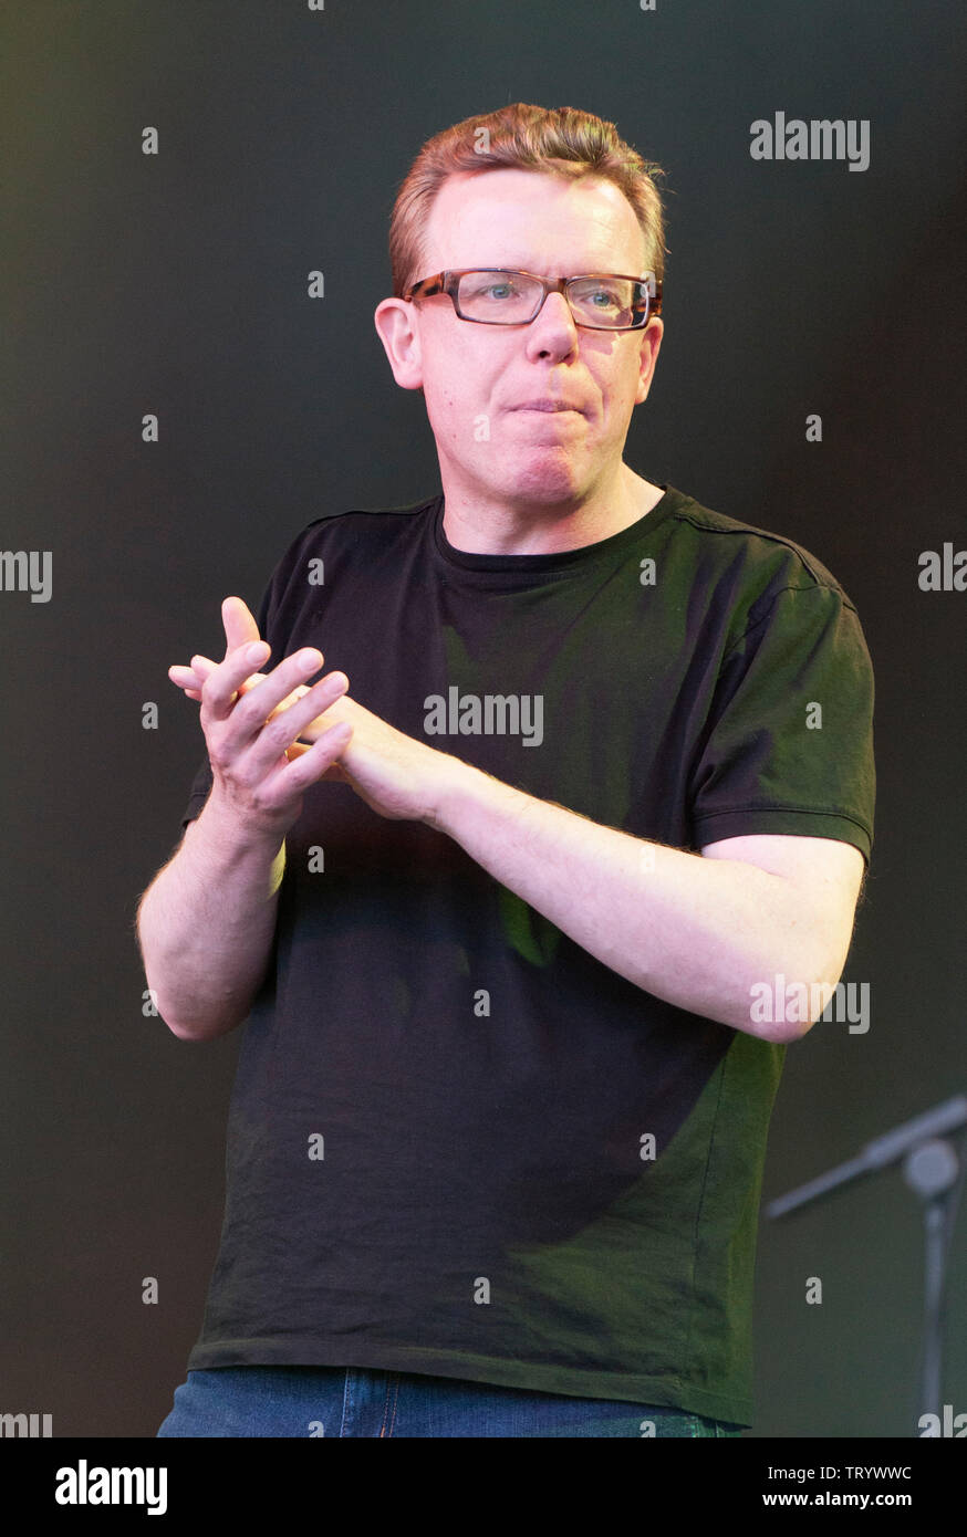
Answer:
<svg viewBox="0 0 967 1537"><path fill-rule="evenodd" d="M201 730L212 765L212 798L246 825L280 836L298 818L303 795L324 778L352 736L352 722L326 721L312 745L294 744L311 719L335 704L349 687L344 673L329 673L307 689L300 679L320 670L323 653L314 649L289 656L269 673L252 669L271 647L258 639L258 626L241 598L221 604L224 659L203 662L195 673L171 667L169 678L201 702Z"/></svg>

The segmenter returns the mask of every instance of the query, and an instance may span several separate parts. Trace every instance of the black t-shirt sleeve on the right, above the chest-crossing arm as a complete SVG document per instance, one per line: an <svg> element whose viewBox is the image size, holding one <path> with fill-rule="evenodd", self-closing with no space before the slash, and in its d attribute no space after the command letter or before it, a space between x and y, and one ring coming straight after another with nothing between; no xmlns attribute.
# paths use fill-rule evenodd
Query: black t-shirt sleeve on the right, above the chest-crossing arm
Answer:
<svg viewBox="0 0 967 1537"><path fill-rule="evenodd" d="M841 589L787 587L723 658L690 778L695 847L750 833L873 844L873 667Z"/></svg>

